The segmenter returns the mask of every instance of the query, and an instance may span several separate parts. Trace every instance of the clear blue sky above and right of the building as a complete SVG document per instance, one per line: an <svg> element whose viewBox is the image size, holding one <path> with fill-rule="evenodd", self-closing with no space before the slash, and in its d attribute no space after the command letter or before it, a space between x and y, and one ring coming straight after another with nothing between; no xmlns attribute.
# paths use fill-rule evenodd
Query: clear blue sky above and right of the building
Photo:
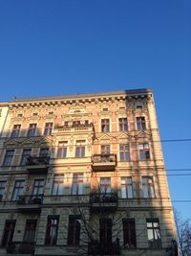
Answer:
<svg viewBox="0 0 191 256"><path fill-rule="evenodd" d="M190 138L190 13L190 0L2 0L0 101L149 87L161 138ZM167 169L191 168L191 142L163 151ZM191 176L168 179L173 199L191 199Z"/></svg>

